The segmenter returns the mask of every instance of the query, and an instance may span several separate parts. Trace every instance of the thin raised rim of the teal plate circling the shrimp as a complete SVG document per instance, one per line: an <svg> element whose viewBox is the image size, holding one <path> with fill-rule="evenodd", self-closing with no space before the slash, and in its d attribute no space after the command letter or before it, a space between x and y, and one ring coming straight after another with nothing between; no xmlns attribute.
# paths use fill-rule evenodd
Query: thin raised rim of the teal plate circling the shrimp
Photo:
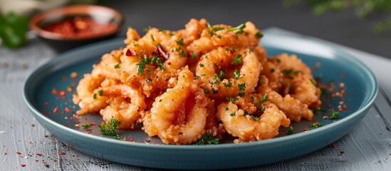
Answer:
<svg viewBox="0 0 391 171"><path fill-rule="evenodd" d="M266 33L266 31L264 33ZM351 119L357 117L358 115L360 115L361 113L363 113L365 110L367 110L368 108L370 108L372 106L372 103L375 101L375 98L377 97L377 93L378 93L379 85L378 85L377 79L375 77L375 74L372 72L372 70L370 70L370 68L368 66L366 66L365 63L360 61L358 58L356 58L352 54L343 51L341 48L338 48L337 46L335 46L332 43L320 41L316 38L311 38L309 36L291 36L291 35L282 35L280 33L266 33L265 35L270 38L273 36L276 36L276 37L280 37L280 38L283 37L283 38L291 38L291 39L296 39L296 40L300 40L300 41L305 41L307 43L309 43L309 42L316 43L317 45L326 46L326 47L330 48L333 52L335 52L335 54L343 56L343 58L348 59L349 61L353 61L357 66L360 66L360 71L365 71L365 75L369 76L369 78L370 78L370 81L368 81L368 83L370 83L370 86L372 86L372 89L370 92L368 92L368 93L370 93L369 98L363 102L363 105L358 110L355 110L353 113L350 113L348 116L346 116L346 117L344 117L334 123L324 125L320 128L313 129L313 130L308 131L306 133L296 133L293 135L286 135L283 137L272 138L269 140L255 141L255 142L245 142L245 143L239 143L239 144L227 143L227 144L219 144L219 145L164 145L164 144L155 145L155 144L146 144L146 143L141 143L141 142L136 142L136 143L135 142L127 142L127 141L122 141L122 140L115 140L113 138L106 138L106 137L100 137L100 136L96 136L96 135L85 134L85 133L82 133L78 130L68 128L65 125L61 125L60 123L57 123L55 120L51 120L51 118L48 118L46 115L43 115L43 113L39 112L38 109L36 109L34 107L31 100L27 97L28 96L28 85L31 84L31 81L33 81L33 77L36 76L39 73L39 71L41 71L45 67L51 66L51 65L56 64L58 62L61 62L63 60L73 59L73 60L78 61L76 59L76 58L78 58L78 56L73 56L73 57L72 56L68 57L68 56L70 56L72 53L78 53L78 51L83 50L83 49L93 48L94 46L105 45L107 43L115 43L118 41L122 41L123 38L121 37L121 38L114 38L114 39L110 39L108 41L100 41L98 43L92 43L92 44L89 44L86 46L80 46L78 48L74 48L71 51L66 51L65 53L59 54L58 56L52 58L51 60L47 61L46 63L43 63L41 66L38 66L37 68L35 68L33 70L33 72L31 72L29 74L29 76L27 77L27 79L24 81L24 86L23 86L24 103L26 103L26 105L28 106L28 109L31 110L31 112L33 113L34 116L41 118L46 123L49 123L60 130L67 131L69 133L73 133L77 136L80 136L79 138L90 138L91 140L96 140L96 141L100 141L100 142L105 142L105 143L110 143L110 144L114 143L114 144L121 145L121 146L141 147L141 148L147 148L149 150L154 150L154 149L157 149L157 150L159 150L159 149L165 149L165 150L211 150L211 149L225 150L225 149L231 149L232 147L241 148L241 147L259 146L259 145L273 145L274 143L284 142L286 140L292 140L292 139L296 139L296 138L303 138L303 137L308 137L311 135L316 135L316 134L321 133L325 130L328 130L329 128L333 128L338 125L343 125L344 123L347 123L348 120L351 120ZM261 41L261 44L262 44L262 41ZM85 58L85 60L86 59L87 58ZM79 59L79 60L81 60L81 59Z"/></svg>

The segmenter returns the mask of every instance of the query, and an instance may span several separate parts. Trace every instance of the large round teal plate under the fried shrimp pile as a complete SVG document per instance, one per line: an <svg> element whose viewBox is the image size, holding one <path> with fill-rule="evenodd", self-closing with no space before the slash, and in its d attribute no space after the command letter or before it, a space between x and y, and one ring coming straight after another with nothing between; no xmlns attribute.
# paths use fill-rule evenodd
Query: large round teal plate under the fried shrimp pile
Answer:
<svg viewBox="0 0 391 171"><path fill-rule="evenodd" d="M298 55L321 83L334 83L333 93L344 92L342 97L325 102L325 110L315 115L322 127L310 128L314 120L305 120L293 123L293 135L281 128L277 138L241 144L234 144L234 138L227 136L219 145L164 145L159 138L148 137L140 126L119 131L127 141L104 137L98 128L102 121L99 115L73 115L78 110L71 100L75 88L68 89L77 86L83 73L89 73L104 53L124 46L122 39L83 46L40 66L24 84L24 101L44 128L75 150L128 165L180 170L251 167L305 155L341 138L370 110L377 95L375 76L350 54L316 39L272 33L265 33L261 44L269 56ZM78 78L71 78L73 72ZM343 109L340 119L323 119L330 116L331 109L338 110L338 105ZM80 126L85 124L92 126Z"/></svg>

